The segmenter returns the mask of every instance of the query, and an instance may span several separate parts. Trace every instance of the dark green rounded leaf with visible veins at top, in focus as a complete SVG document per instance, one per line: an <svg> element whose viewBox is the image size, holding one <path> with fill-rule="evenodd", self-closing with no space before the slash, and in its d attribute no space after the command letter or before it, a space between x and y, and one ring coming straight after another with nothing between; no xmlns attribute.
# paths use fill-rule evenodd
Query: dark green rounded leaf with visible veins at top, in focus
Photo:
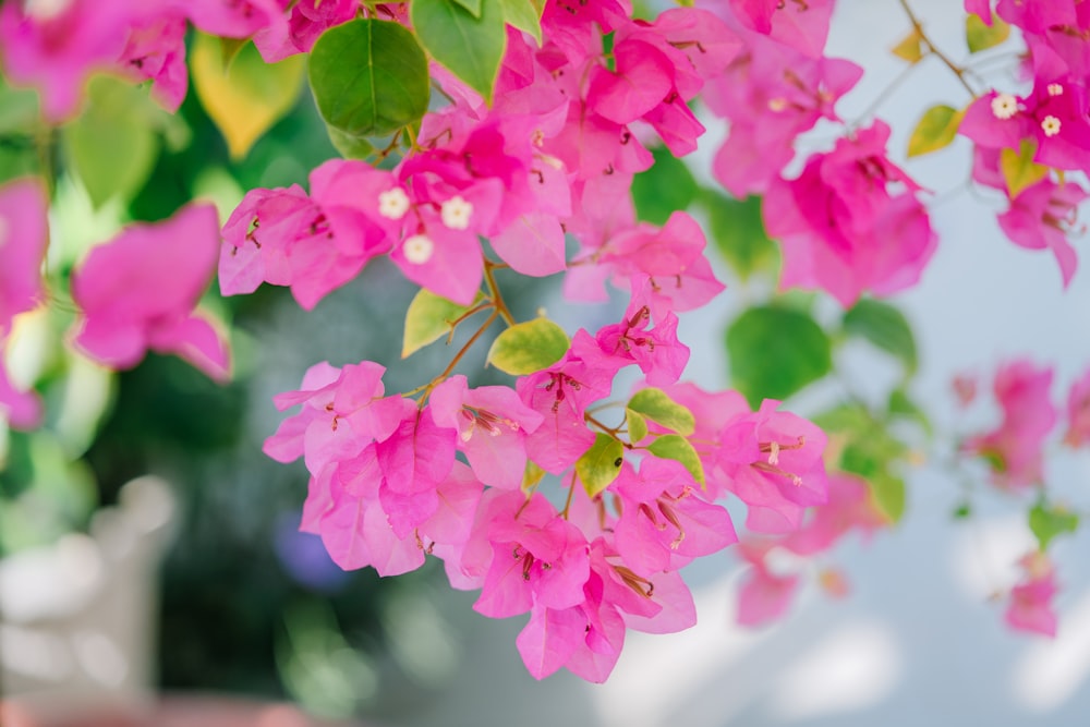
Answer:
<svg viewBox="0 0 1090 727"><path fill-rule="evenodd" d="M358 19L326 31L310 77L322 118L350 136L391 134L427 111L427 58L398 23Z"/></svg>

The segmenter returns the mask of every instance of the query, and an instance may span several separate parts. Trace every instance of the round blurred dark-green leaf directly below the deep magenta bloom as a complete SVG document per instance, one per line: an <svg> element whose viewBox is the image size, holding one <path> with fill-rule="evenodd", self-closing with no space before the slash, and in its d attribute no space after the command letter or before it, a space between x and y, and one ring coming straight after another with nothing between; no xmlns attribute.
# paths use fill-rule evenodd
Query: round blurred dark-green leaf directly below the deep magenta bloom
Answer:
<svg viewBox="0 0 1090 727"><path fill-rule="evenodd" d="M758 407L786 399L833 368L828 337L806 313L776 306L752 307L727 329L727 354L735 387Z"/></svg>

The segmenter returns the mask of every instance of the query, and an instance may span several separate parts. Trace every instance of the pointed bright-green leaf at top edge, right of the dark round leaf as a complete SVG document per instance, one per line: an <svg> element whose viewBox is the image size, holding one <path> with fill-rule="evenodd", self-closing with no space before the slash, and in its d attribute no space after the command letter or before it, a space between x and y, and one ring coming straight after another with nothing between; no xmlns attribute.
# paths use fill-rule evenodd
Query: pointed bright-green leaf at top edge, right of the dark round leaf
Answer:
<svg viewBox="0 0 1090 727"><path fill-rule="evenodd" d="M492 102L492 89L507 48L504 8L483 0L474 17L455 0L413 0L409 3L416 37L435 60L447 66Z"/></svg>

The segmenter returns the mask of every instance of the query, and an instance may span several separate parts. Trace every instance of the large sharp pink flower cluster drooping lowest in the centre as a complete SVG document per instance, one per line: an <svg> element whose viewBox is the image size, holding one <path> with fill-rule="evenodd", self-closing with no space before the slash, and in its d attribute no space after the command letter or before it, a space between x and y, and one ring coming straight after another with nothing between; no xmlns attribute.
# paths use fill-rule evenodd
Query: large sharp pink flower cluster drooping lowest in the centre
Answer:
<svg viewBox="0 0 1090 727"><path fill-rule="evenodd" d="M716 500L734 492L750 504L751 530L791 530L806 507L825 502L824 437L776 402L751 412L736 395L716 395L730 405L713 410L699 404L716 396L692 385L645 389L691 413L691 433L656 426L637 439L629 421L628 444L650 444L607 462L607 486L592 492L585 455L617 429L589 408L609 396L616 369L634 364L620 347L603 350L608 329L580 331L561 361L514 390L470 388L457 376L414 402L385 393L377 364L312 367L301 390L277 397L281 409L302 409L265 446L277 460L306 462L303 529L344 568L391 575L434 555L451 585L481 590L480 613L530 613L518 645L538 678L567 667L604 680L627 628L691 626L678 570L737 541ZM699 452L697 461L656 443ZM565 483L562 509L538 487L543 472ZM814 521L798 534L838 526Z"/></svg>

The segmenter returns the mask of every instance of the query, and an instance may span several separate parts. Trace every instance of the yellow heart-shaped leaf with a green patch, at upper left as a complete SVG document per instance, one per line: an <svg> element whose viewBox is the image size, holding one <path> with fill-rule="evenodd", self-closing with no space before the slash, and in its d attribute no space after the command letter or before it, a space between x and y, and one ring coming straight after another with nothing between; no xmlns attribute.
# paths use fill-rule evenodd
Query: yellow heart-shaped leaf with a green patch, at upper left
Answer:
<svg viewBox="0 0 1090 727"><path fill-rule="evenodd" d="M295 105L306 60L294 56L269 64L247 43L225 70L219 38L197 33L190 68L201 105L223 134L231 158L241 159Z"/></svg>

